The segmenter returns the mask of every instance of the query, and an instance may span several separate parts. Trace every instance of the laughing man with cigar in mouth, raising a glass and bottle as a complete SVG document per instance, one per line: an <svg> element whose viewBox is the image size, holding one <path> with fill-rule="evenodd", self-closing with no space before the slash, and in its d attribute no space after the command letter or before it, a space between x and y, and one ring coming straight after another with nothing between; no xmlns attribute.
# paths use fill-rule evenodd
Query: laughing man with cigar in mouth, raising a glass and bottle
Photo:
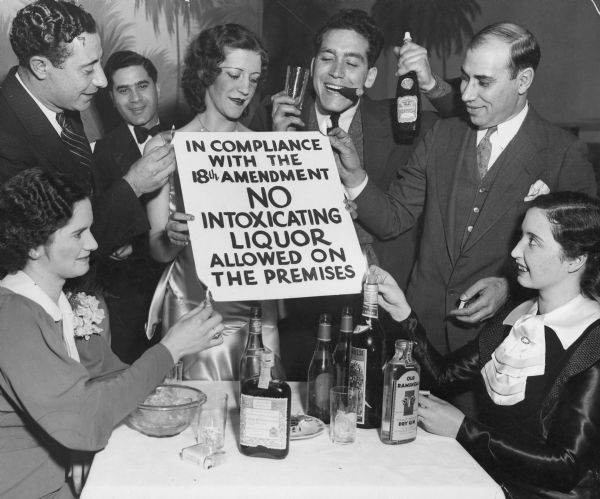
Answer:
<svg viewBox="0 0 600 499"><path fill-rule="evenodd" d="M369 177L381 190L386 190L400 166L410 157L417 140L412 144L394 141L390 106L395 104L395 99L373 101L364 94L348 97L339 92L341 89L364 92L373 85L377 77L375 62L382 47L383 34L366 12L340 10L315 35L313 89L307 92L302 111L285 92L279 92L257 110L250 128L292 133L320 130L326 134L332 127L333 116L333 124L348 132L357 144L361 164L369 171ZM424 113L421 133L435 120L434 113ZM379 261L400 285L406 284L415 258L416 228L387 241L379 239L360 223L356 223L355 228L369 260ZM295 310L298 312L298 317L291 320L293 327L298 327L298 321L304 320L314 331L320 313L330 312L337 316L342 306L353 300L348 296L336 298L288 300L291 315ZM355 306L360 306L360 297L354 301Z"/></svg>

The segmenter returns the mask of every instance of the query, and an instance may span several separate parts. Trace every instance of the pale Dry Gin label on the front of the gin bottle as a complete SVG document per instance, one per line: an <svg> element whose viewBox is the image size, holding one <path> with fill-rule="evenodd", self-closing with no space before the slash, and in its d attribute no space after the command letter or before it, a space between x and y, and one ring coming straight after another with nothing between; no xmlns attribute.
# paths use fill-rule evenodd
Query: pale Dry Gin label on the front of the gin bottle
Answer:
<svg viewBox="0 0 600 499"><path fill-rule="evenodd" d="M394 382L390 439L394 442L412 440L417 436L417 408L419 407L419 372L406 371Z"/></svg>

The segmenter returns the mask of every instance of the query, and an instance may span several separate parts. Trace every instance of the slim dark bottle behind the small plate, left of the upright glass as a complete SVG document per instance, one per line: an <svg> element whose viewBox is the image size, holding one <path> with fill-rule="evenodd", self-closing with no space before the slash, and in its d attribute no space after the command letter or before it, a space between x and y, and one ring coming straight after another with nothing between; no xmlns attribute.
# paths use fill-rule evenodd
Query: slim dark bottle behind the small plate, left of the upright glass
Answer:
<svg viewBox="0 0 600 499"><path fill-rule="evenodd" d="M331 315L321 314L317 344L308 367L306 413L329 424L329 390L335 383L335 366L331 355Z"/></svg>

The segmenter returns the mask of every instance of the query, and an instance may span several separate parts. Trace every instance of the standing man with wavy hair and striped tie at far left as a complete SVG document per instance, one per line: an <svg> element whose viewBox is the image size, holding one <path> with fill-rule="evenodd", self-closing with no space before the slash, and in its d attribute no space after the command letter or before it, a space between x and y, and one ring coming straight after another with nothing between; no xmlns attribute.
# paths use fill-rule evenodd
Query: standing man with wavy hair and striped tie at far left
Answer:
<svg viewBox="0 0 600 499"><path fill-rule="evenodd" d="M174 153L157 149L100 188L79 116L106 86L94 19L70 2L40 0L17 13L10 41L19 65L0 89L0 181L34 166L78 179L93 191L95 258L124 251L149 228L138 196L164 185Z"/></svg>

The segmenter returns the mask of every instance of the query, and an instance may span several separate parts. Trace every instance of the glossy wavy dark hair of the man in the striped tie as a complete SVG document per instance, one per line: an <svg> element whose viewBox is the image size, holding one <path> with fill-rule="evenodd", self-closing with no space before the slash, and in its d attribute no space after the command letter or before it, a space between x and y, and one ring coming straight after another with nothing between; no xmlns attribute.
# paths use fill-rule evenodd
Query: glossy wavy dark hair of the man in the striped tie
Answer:
<svg viewBox="0 0 600 499"><path fill-rule="evenodd" d="M61 67L71 55L67 44L81 33L96 33L90 14L64 0L39 0L17 12L10 44L21 66L28 67L31 57L42 55Z"/></svg>

